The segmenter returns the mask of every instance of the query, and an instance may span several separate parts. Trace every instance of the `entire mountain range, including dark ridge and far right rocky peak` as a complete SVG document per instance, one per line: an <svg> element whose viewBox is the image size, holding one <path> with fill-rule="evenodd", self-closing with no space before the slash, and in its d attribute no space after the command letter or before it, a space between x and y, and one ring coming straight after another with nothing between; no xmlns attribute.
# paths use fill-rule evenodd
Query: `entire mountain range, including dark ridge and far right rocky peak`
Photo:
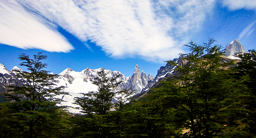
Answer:
<svg viewBox="0 0 256 138"><path fill-rule="evenodd" d="M223 58L224 62L238 59L238 57L233 56L234 53L238 52L245 52L244 46L240 44L238 40L233 40L230 44L226 45L225 47L226 56ZM185 64L185 61L181 60L181 56L179 58L174 58L173 61L176 63ZM122 73L119 71L110 71L105 69L105 72L107 74L107 77L114 77L117 75L120 75L119 79L123 81L119 89L129 89L135 91L135 96L137 98L143 97L144 95L147 95L150 92L150 88L157 86L161 80L166 80L168 78L171 78L172 76L178 75L179 72L174 71L175 66L170 66L168 63L165 66L161 66L160 69L157 71L157 75L155 78L149 74L146 75L146 73L143 72L143 70L140 72L139 66L136 65L135 71L132 76L125 77ZM18 78L15 75L14 70L21 70L17 66L13 67L11 71L7 70L3 64L0 64L0 93L6 92L8 89L7 86L14 85L14 86L22 86L23 83L18 80ZM90 91L96 91L97 86L92 84L92 81L95 80L97 77L97 72L100 71L100 69L84 69L81 72L74 71L70 68L65 69L62 71L59 75L60 77L57 79L59 83L57 83L57 86L66 86L65 92L69 92L70 95L65 96L59 96L58 98L62 98L65 102L62 102L62 105L66 106L72 106L72 107L78 107L77 104L73 104L75 97L81 97L82 94L80 93L86 93ZM3 100L4 97L0 95L0 100ZM115 102L115 99L113 99L113 102ZM69 109L73 113L79 113L80 110L78 109Z"/></svg>

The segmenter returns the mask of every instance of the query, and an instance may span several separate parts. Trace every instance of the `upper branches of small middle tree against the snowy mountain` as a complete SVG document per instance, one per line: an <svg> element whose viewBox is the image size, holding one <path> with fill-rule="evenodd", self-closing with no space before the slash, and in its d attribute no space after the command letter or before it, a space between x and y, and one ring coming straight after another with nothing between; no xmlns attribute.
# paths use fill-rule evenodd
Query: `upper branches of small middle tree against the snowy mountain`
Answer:
<svg viewBox="0 0 256 138"><path fill-rule="evenodd" d="M75 98L75 104L81 106L82 113L86 113L91 117L94 114L106 115L113 106L116 110L122 110L133 92L118 90L118 86L121 83L119 75L108 78L104 69L101 69L98 72L98 77L93 81L93 84L98 86L98 91L82 93L82 98ZM114 98L118 100L116 104L112 103Z"/></svg>

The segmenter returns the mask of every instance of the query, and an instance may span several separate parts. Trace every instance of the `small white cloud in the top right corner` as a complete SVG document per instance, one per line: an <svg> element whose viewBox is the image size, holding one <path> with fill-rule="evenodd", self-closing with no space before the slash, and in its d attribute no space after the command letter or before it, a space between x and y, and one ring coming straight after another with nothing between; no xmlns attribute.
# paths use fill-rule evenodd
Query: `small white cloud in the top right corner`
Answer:
<svg viewBox="0 0 256 138"><path fill-rule="evenodd" d="M230 10L256 10L256 0L223 0L223 6L227 6Z"/></svg>

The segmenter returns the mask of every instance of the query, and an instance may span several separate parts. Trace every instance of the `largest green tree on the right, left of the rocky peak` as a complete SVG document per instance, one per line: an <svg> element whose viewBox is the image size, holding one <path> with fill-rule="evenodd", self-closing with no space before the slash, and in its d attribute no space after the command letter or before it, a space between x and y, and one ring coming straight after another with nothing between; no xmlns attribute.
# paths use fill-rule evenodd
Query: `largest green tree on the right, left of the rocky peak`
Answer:
<svg viewBox="0 0 256 138"><path fill-rule="evenodd" d="M187 121L183 122L189 132L184 136L212 138L221 134L221 121L217 120L221 110L235 102L242 86L227 69L233 62L221 62L224 51L209 39L203 46L190 42L190 53L182 54L184 65L167 61L174 65L180 76L173 81L165 81L156 92L164 92L163 102L179 111ZM223 125L222 125L223 126Z"/></svg>

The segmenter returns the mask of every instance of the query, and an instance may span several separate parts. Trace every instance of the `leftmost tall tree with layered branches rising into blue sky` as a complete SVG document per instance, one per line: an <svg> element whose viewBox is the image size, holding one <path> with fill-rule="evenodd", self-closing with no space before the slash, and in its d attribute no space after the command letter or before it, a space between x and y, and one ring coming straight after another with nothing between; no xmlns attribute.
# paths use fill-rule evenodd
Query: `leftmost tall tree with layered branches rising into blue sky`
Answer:
<svg viewBox="0 0 256 138"><path fill-rule="evenodd" d="M33 59L26 54L20 54L18 58L23 61L20 66L27 67L29 72L16 70L17 77L24 85L9 86L12 89L3 95L10 102L2 105L8 109L0 109L6 111L5 115L8 116L5 119L12 123L11 129L15 128L19 137L50 137L50 132L53 132L51 128L56 127L58 115L62 112L62 107L56 106L62 100L55 96L68 93L62 92L63 86L55 86L58 75L48 74L48 71L43 70L47 64L41 61L47 56L42 55L42 52L34 55ZM12 132L6 135L13 135Z"/></svg>

